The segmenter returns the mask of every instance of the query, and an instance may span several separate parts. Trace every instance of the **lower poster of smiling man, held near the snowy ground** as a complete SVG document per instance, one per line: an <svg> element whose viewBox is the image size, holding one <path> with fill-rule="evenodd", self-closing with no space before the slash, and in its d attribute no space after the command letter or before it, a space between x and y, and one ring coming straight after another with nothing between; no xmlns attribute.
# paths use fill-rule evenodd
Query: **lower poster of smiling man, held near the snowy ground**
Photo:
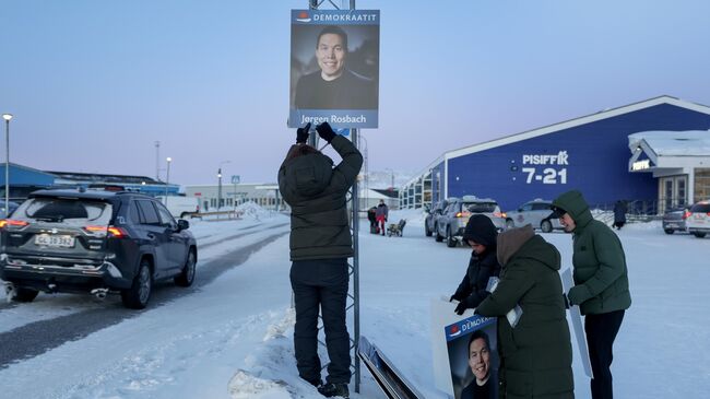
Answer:
<svg viewBox="0 0 710 399"><path fill-rule="evenodd" d="M474 315L445 328L455 399L498 398L496 318Z"/></svg>

